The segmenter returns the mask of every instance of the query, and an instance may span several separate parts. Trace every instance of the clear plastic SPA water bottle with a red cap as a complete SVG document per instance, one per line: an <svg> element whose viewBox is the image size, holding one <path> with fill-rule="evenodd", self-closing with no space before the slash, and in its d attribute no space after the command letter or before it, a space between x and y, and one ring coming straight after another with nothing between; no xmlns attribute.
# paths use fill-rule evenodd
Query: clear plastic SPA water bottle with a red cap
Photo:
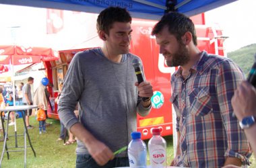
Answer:
<svg viewBox="0 0 256 168"><path fill-rule="evenodd" d="M152 168L166 167L166 140L160 135L160 128L152 129L152 138L148 141Z"/></svg>

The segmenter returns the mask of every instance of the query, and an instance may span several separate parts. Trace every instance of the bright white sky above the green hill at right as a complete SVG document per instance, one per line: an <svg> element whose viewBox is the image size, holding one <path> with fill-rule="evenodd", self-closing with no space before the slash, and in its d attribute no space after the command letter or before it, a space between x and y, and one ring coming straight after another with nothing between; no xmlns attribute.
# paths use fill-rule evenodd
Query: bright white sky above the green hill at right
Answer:
<svg viewBox="0 0 256 168"><path fill-rule="evenodd" d="M256 43L256 1L238 0L205 13L205 22L218 23L223 35L228 36L226 52Z"/></svg>

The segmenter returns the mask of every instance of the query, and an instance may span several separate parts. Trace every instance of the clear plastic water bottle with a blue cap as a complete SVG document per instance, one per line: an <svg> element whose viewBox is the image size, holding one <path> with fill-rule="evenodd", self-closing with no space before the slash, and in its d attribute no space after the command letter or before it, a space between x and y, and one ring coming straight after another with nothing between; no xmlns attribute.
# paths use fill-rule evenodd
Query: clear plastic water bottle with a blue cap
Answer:
<svg viewBox="0 0 256 168"><path fill-rule="evenodd" d="M147 146L141 140L140 132L131 132L131 142L128 145L128 157L130 167L146 168L147 167Z"/></svg>

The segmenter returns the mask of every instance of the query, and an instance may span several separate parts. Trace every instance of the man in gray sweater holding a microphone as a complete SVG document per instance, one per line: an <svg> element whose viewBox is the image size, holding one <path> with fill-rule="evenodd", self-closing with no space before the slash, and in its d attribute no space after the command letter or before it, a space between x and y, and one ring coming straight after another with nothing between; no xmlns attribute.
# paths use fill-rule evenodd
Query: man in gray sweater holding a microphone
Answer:
<svg viewBox="0 0 256 168"><path fill-rule="evenodd" d="M59 99L59 117L78 139L76 167L126 167L127 151L115 156L113 152L131 141L137 112L149 114L152 85L137 83L132 62L141 60L129 53L132 30L128 11L104 9L98 15L97 30L104 45L74 56ZM77 101L79 121L73 113Z"/></svg>

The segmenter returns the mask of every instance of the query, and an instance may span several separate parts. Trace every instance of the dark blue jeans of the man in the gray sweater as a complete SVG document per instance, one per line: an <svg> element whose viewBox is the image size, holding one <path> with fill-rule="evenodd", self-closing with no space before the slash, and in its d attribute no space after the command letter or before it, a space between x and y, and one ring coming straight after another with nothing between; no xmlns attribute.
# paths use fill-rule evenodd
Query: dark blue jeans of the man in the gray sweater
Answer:
<svg viewBox="0 0 256 168"><path fill-rule="evenodd" d="M108 161L106 165L99 166L90 155L77 155L76 168L113 168L113 167L129 167L128 157L115 157L112 161Z"/></svg>

